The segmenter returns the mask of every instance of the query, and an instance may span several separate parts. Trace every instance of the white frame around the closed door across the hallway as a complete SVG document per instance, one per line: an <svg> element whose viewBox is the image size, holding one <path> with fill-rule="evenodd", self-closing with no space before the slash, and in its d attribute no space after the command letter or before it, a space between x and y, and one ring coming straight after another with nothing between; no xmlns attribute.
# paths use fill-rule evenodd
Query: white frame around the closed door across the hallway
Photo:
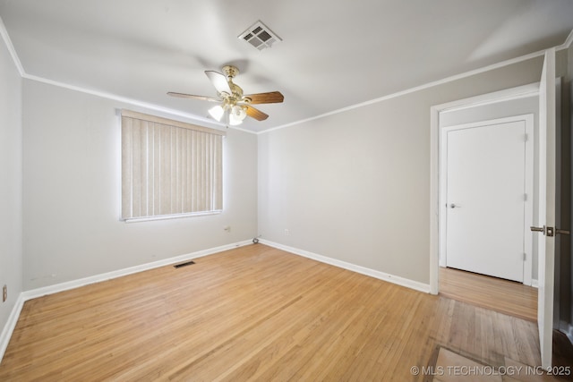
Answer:
<svg viewBox="0 0 573 382"><path fill-rule="evenodd" d="M531 95L529 96L531 97ZM498 100L499 101L499 100ZM458 108L457 108L458 109ZM447 153L448 153L448 140L447 133L457 130L472 129L476 127L483 126L484 124L500 124L500 123L512 123L523 121L526 123L526 137L524 137L525 147L525 184L524 191L526 193L524 203L525 203L525 213L524 213L524 225L523 225L523 244L524 253L526 257L523 262L523 284L532 284L532 267L533 267L533 233L529 229L533 225L534 218L534 115L512 115L509 117L487 119L482 121L477 121L473 123L462 123L452 126L444 126L440 128L440 208L438 220L440 222L440 248L439 248L439 258L440 267L446 267L447 259L447 236L448 236L448 208L447 203L447 175L448 175L448 163L447 163Z"/></svg>

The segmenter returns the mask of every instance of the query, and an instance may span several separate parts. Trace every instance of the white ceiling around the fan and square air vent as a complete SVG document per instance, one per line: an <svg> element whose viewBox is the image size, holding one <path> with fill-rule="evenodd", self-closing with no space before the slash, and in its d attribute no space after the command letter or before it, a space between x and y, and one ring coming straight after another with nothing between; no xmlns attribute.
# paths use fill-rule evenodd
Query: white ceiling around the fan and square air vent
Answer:
<svg viewBox="0 0 573 382"><path fill-rule="evenodd" d="M207 117L205 70L235 64L245 93L279 90L252 132L295 123L558 46L571 0L0 0L25 74ZM282 42L237 38L261 20Z"/></svg>

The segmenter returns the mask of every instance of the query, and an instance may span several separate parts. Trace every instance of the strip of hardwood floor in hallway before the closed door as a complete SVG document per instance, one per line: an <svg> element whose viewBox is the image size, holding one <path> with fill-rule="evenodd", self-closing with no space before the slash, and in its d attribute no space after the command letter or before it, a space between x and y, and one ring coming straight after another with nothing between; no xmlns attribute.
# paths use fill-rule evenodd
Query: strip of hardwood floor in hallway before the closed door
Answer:
<svg viewBox="0 0 573 382"><path fill-rule="evenodd" d="M440 294L537 322L537 289L532 286L440 267Z"/></svg>

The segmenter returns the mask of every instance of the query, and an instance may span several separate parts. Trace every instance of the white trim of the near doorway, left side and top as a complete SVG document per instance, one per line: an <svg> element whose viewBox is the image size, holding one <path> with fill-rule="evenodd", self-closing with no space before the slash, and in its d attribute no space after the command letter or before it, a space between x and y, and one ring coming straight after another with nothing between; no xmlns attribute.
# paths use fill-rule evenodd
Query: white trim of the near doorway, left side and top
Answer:
<svg viewBox="0 0 573 382"><path fill-rule="evenodd" d="M535 82L430 107L430 293L440 292L440 113L538 94L539 82Z"/></svg>

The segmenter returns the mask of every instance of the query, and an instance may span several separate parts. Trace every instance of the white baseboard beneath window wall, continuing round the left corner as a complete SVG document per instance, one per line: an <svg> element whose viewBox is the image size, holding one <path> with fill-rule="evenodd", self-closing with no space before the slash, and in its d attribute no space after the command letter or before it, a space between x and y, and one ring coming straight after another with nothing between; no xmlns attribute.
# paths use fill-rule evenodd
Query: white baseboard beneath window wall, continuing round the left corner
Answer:
<svg viewBox="0 0 573 382"><path fill-rule="evenodd" d="M26 301L35 299L37 297L45 296L47 294L64 292L70 289L79 288L80 286L83 285L95 284L101 281L110 280L112 278L132 275L134 273L142 272L157 267L165 267L186 260L201 258L203 256L211 255L213 253L222 252L223 250L232 250L234 248L243 247L244 245L249 245L249 244L252 244L252 240L245 240L244 242L235 242L232 244L222 245L220 247L210 248L209 250L198 250L196 252L187 253L181 256L176 256L174 258L162 259L147 264L141 264L140 266L127 267L124 269L119 269L96 276L84 277L78 280L44 286L41 288L32 289L30 291L24 291L20 293L20 296L18 296L18 300L16 301L16 304L13 307L12 313L8 318L8 322L6 323L6 325L4 325L4 328L2 329L2 335L0 335L0 361L2 361L2 359L4 358L4 352L8 347L8 343L10 342L10 338L12 337L13 330L16 327L18 318L20 317L21 309L24 306L24 302Z"/></svg>

